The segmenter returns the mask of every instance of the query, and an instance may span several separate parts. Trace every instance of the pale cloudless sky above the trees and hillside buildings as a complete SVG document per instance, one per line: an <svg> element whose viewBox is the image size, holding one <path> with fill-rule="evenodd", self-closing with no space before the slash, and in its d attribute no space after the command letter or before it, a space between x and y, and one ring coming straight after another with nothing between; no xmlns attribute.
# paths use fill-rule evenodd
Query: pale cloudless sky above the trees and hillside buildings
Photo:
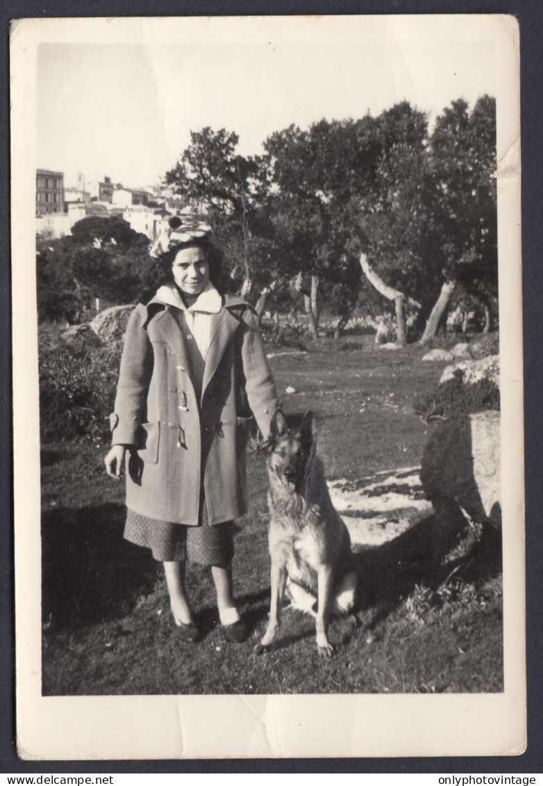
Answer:
<svg viewBox="0 0 543 786"><path fill-rule="evenodd" d="M42 43L36 164L64 171L65 185L78 171L151 185L205 126L235 131L253 155L291 123L377 115L404 99L432 123L485 93L495 94L488 40Z"/></svg>

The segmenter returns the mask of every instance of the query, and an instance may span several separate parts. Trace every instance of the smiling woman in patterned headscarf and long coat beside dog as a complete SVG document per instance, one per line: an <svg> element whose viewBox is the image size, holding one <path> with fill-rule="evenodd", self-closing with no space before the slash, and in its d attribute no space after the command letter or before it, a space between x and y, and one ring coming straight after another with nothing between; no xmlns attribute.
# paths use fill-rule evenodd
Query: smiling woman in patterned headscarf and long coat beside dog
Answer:
<svg viewBox="0 0 543 786"><path fill-rule="evenodd" d="M221 294L210 227L172 219L151 249L169 282L129 318L108 475L126 465L125 538L164 564L184 641L200 631L185 592L187 556L210 565L228 641L247 635L232 594L232 523L247 509L250 421L264 436L279 406L253 310Z"/></svg>

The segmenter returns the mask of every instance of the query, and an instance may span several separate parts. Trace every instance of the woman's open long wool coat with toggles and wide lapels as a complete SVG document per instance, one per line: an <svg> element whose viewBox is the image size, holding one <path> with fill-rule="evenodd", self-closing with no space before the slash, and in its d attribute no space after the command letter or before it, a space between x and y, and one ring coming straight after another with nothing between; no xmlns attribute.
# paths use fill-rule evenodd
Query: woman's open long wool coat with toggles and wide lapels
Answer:
<svg viewBox="0 0 543 786"><path fill-rule="evenodd" d="M205 490L210 523L247 509L246 441L252 414L264 436L279 406L257 321L238 296L210 314L200 406L187 340L173 307L153 299L129 318L113 444L127 454L126 505L151 519L196 525Z"/></svg>

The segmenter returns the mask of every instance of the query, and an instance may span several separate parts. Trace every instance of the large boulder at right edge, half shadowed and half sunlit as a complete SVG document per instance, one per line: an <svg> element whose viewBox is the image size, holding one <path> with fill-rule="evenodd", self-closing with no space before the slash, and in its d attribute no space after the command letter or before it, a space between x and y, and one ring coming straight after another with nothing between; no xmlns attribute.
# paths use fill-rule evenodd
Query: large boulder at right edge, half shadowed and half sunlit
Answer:
<svg viewBox="0 0 543 786"><path fill-rule="evenodd" d="M426 443L421 483L439 516L462 509L474 522L501 526L500 413L439 424Z"/></svg>

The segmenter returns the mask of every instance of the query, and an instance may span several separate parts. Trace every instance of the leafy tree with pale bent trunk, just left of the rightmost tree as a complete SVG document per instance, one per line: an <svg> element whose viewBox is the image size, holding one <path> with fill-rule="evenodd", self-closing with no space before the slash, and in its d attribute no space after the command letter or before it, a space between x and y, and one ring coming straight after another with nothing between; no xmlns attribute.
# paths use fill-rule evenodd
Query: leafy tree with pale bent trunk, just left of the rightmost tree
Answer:
<svg viewBox="0 0 543 786"><path fill-rule="evenodd" d="M342 176L329 178L329 193L347 228L343 242L366 281L395 304L398 341L406 343L405 304L421 307L414 296L424 266L426 119L404 101L337 130L348 136L334 145Z"/></svg>

